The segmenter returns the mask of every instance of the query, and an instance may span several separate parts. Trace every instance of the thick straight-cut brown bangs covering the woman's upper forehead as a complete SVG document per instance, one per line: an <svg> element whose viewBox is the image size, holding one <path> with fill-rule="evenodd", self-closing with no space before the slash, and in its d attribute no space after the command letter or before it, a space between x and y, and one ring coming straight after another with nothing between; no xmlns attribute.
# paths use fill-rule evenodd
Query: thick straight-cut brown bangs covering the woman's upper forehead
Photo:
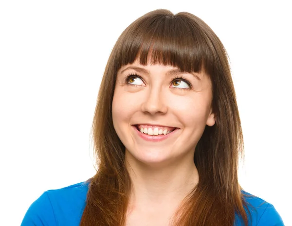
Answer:
<svg viewBox="0 0 292 226"><path fill-rule="evenodd" d="M170 65L186 72L203 70L211 75L216 55L206 29L202 28L206 26L200 18L190 18L185 13L151 17L146 14L120 36L114 56L116 71L135 60L146 66L149 60L150 64Z"/></svg>

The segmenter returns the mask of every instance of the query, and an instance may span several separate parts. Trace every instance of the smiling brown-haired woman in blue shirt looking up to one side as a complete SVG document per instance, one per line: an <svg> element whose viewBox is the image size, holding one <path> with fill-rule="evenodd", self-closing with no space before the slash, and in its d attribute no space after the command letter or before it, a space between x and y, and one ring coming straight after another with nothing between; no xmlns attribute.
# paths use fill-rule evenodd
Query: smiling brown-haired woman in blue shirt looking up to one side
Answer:
<svg viewBox="0 0 292 226"><path fill-rule="evenodd" d="M281 226L243 191L227 53L200 18L155 10L117 40L92 124L97 173L44 192L22 226Z"/></svg>

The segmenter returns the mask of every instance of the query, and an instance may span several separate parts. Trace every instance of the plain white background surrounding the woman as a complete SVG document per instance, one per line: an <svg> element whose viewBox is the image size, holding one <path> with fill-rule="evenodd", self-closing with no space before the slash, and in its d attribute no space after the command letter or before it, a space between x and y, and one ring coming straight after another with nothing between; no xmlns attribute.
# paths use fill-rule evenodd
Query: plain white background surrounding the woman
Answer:
<svg viewBox="0 0 292 226"><path fill-rule="evenodd" d="M90 130L110 51L159 8L200 17L223 42L245 141L239 182L292 225L289 1L174 2L0 2L0 225L20 225L43 191L95 173Z"/></svg>

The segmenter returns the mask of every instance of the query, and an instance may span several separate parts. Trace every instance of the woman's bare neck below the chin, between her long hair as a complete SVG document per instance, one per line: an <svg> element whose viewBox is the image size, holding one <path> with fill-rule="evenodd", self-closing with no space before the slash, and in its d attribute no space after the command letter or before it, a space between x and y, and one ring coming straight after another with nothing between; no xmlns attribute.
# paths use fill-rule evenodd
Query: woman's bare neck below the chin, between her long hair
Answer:
<svg viewBox="0 0 292 226"><path fill-rule="evenodd" d="M132 182L129 200L132 208L176 208L199 181L193 157L153 166L126 152L126 162Z"/></svg>

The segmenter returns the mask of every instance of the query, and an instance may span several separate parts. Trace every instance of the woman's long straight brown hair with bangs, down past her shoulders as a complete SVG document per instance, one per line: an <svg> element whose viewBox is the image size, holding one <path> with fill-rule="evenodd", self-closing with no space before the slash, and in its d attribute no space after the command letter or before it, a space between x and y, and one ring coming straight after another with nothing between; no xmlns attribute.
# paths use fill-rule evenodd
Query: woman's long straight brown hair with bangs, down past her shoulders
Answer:
<svg viewBox="0 0 292 226"><path fill-rule="evenodd" d="M131 181L125 167L125 146L112 122L111 104L117 71L140 59L187 72L204 72L212 81L214 126L199 140L194 162L199 183L177 211L176 226L233 226L235 213L248 225L247 203L238 183L238 157L243 135L228 55L212 29L200 18L155 10L139 17L118 38L100 85L92 134L98 160L88 180L80 226L125 226Z"/></svg>

